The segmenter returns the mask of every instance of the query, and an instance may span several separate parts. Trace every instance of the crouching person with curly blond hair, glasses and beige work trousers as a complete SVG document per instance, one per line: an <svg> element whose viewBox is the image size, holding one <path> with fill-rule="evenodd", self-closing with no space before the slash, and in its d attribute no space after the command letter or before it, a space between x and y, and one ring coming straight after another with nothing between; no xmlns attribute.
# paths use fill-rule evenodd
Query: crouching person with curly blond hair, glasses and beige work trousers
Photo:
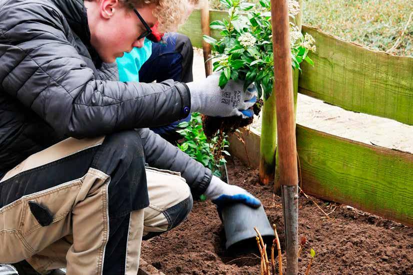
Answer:
<svg viewBox="0 0 413 275"><path fill-rule="evenodd" d="M217 75L112 80L151 26L184 20L186 0L168 1L0 0L0 263L136 274L141 239L176 226L190 193L259 206L146 128L190 112L248 117L254 92L222 90Z"/></svg>

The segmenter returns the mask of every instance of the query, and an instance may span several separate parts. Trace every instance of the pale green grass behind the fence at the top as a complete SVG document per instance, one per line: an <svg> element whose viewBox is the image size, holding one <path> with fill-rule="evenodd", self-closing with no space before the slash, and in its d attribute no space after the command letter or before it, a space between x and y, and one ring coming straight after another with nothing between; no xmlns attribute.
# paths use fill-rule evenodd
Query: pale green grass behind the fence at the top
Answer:
<svg viewBox="0 0 413 275"><path fill-rule="evenodd" d="M209 5L222 9L218 0ZM375 50L413 56L412 13L413 0L303 0L302 22Z"/></svg>

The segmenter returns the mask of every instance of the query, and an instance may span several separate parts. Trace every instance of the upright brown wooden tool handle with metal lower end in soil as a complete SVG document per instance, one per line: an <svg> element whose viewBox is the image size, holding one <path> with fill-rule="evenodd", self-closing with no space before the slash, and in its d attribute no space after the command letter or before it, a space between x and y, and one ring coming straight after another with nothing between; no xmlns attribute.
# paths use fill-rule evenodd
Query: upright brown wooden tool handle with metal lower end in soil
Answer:
<svg viewBox="0 0 413 275"><path fill-rule="evenodd" d="M298 173L287 0L271 0L277 151L287 250L286 274L298 273Z"/></svg>

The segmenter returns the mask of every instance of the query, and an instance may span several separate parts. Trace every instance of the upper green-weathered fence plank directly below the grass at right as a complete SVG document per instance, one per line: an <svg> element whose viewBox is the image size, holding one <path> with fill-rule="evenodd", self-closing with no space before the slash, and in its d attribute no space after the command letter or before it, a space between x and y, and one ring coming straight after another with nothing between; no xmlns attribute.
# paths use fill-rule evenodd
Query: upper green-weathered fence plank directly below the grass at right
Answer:
<svg viewBox="0 0 413 275"><path fill-rule="evenodd" d="M413 58L392 56L302 27L315 39L299 93L343 109L413 125Z"/></svg>

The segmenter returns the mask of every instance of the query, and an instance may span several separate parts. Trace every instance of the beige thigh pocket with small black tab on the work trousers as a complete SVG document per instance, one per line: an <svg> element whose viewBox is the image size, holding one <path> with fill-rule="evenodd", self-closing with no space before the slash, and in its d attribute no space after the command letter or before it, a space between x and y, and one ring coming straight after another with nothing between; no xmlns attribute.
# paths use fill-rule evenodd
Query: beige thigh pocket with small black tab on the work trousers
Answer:
<svg viewBox="0 0 413 275"><path fill-rule="evenodd" d="M28 258L69 234L70 212L80 185L81 179L77 179L23 196L2 207L0 262L13 263ZM44 209L49 216L33 205Z"/></svg>

